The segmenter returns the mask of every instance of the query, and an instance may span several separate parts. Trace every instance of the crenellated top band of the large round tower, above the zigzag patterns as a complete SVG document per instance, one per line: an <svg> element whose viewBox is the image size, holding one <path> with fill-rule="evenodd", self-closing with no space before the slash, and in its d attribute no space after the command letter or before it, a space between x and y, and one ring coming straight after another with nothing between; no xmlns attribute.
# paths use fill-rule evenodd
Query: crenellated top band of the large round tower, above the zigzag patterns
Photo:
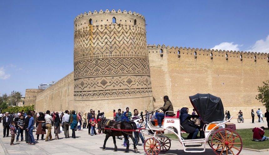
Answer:
<svg viewBox="0 0 269 155"><path fill-rule="evenodd" d="M85 28L89 27L89 25L103 25L103 24L121 24L121 25L136 25L139 27L145 27L145 17L136 12L127 12L124 10L106 11L100 10L97 12L84 12L84 14L80 14L74 19L74 28Z"/></svg>

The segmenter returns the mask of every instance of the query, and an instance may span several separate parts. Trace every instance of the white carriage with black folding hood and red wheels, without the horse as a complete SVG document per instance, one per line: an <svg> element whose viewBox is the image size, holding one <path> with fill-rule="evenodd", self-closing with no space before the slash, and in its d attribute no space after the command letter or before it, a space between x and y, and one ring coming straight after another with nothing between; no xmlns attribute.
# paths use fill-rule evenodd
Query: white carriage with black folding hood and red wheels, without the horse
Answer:
<svg viewBox="0 0 269 155"><path fill-rule="evenodd" d="M147 121L148 128L155 132L154 135L147 135L150 138L145 140L145 153L148 155L158 155L160 152L168 151L171 147L171 140L163 134L165 130L168 130L178 137L185 152L205 152L206 143L208 143L217 155L238 155L242 150L242 139L236 131L231 128L225 128L225 123L229 122L232 117L225 121L221 99L211 94L196 94L189 98L193 108L204 123L202 130L204 131L205 138L186 139L182 136L185 131L180 126L180 111L178 110L175 111L177 113L176 117L164 118L163 128L156 128L150 121ZM193 145L193 143L199 145ZM197 146L203 146L203 149L197 150ZM191 147L196 147L196 149L191 150Z"/></svg>

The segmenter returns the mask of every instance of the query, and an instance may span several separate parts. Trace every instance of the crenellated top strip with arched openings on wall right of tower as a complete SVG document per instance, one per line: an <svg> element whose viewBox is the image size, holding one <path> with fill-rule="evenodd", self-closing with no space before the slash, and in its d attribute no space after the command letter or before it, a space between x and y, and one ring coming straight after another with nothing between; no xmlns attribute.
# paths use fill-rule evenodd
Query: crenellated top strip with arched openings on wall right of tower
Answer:
<svg viewBox="0 0 269 155"><path fill-rule="evenodd" d="M226 60L229 58L239 58L241 61L243 59L254 59L256 62L258 59L266 60L269 62L269 53L260 52L246 52L246 51L229 51L229 50L218 50L218 49L202 49L202 48L190 48L190 47L170 47L169 45L147 45L148 52L159 53L160 56L163 54L176 54L178 58L182 58L182 55L193 55L195 58L202 56L209 56L211 59L214 57L224 57Z"/></svg>

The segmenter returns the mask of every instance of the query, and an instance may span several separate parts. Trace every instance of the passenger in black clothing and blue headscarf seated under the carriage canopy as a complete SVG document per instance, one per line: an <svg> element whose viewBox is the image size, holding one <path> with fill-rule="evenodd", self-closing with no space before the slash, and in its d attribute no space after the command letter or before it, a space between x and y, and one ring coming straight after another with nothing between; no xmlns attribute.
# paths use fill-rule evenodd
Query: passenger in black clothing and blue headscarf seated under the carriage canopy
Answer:
<svg viewBox="0 0 269 155"><path fill-rule="evenodd" d="M200 127L195 125L191 118L199 118L198 115L190 115L188 114L188 108L182 108L180 110L180 125L184 128L186 133L190 133L188 139L195 139L198 135Z"/></svg>

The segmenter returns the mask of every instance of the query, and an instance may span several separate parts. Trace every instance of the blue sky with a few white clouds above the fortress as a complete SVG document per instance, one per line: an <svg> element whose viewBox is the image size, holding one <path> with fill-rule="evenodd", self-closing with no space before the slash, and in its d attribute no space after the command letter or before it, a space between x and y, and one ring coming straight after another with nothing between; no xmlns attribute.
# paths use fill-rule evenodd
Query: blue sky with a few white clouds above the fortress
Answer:
<svg viewBox="0 0 269 155"><path fill-rule="evenodd" d="M269 53L269 1L0 1L0 95L74 70L74 18L100 9L145 16L148 44Z"/></svg>

